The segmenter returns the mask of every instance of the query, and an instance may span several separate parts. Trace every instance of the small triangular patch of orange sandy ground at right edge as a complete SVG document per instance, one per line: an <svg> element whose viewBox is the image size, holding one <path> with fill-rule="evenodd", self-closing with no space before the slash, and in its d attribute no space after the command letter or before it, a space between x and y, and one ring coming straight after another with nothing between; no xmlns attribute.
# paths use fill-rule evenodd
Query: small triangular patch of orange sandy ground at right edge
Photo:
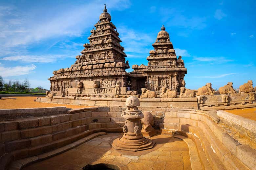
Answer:
<svg viewBox="0 0 256 170"><path fill-rule="evenodd" d="M247 119L256 120L256 107L248 108L248 109L225 110L225 111L232 113L234 115L245 117Z"/></svg>

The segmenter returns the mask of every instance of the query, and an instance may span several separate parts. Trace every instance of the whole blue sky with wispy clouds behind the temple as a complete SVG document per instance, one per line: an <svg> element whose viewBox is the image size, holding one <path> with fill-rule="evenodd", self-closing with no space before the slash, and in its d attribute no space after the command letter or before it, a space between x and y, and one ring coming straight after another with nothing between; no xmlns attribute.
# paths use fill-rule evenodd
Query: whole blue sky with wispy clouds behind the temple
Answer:
<svg viewBox="0 0 256 170"><path fill-rule="evenodd" d="M164 25L188 70L187 88L256 85L256 2L234 0L0 0L0 75L49 89L53 70L74 64L89 42L105 3L130 66L147 64Z"/></svg>

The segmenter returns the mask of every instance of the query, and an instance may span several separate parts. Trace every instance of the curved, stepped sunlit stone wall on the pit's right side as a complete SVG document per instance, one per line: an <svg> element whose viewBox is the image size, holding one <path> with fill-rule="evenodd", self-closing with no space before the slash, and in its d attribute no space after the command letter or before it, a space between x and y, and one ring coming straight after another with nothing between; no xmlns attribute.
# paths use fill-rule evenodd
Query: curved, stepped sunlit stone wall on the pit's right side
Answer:
<svg viewBox="0 0 256 170"><path fill-rule="evenodd" d="M181 133L191 138L205 169L256 169L256 150L236 141L218 126L219 118L194 109L164 113L163 133Z"/></svg>

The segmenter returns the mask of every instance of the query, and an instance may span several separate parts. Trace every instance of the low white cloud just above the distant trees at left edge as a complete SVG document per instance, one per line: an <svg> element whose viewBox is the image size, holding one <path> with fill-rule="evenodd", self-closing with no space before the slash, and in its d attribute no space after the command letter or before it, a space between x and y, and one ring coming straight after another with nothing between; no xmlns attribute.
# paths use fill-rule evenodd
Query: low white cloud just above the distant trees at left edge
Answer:
<svg viewBox="0 0 256 170"><path fill-rule="evenodd" d="M35 65L31 66L16 66L16 67L3 67L0 65L0 75L2 77L20 76L31 73L36 69Z"/></svg>

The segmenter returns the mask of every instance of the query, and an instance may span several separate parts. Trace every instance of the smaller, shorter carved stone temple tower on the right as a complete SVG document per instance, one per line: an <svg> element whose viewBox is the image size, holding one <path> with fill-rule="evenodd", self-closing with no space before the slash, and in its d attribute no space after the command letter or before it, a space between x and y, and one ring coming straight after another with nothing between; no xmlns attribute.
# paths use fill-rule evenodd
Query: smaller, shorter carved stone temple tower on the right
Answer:
<svg viewBox="0 0 256 170"><path fill-rule="evenodd" d="M157 34L154 50L147 57L148 65L133 65L131 72L132 89L146 87L149 90L161 92L165 86L170 90L180 91L182 80L187 73L181 56L177 59L175 50L165 27Z"/></svg>

